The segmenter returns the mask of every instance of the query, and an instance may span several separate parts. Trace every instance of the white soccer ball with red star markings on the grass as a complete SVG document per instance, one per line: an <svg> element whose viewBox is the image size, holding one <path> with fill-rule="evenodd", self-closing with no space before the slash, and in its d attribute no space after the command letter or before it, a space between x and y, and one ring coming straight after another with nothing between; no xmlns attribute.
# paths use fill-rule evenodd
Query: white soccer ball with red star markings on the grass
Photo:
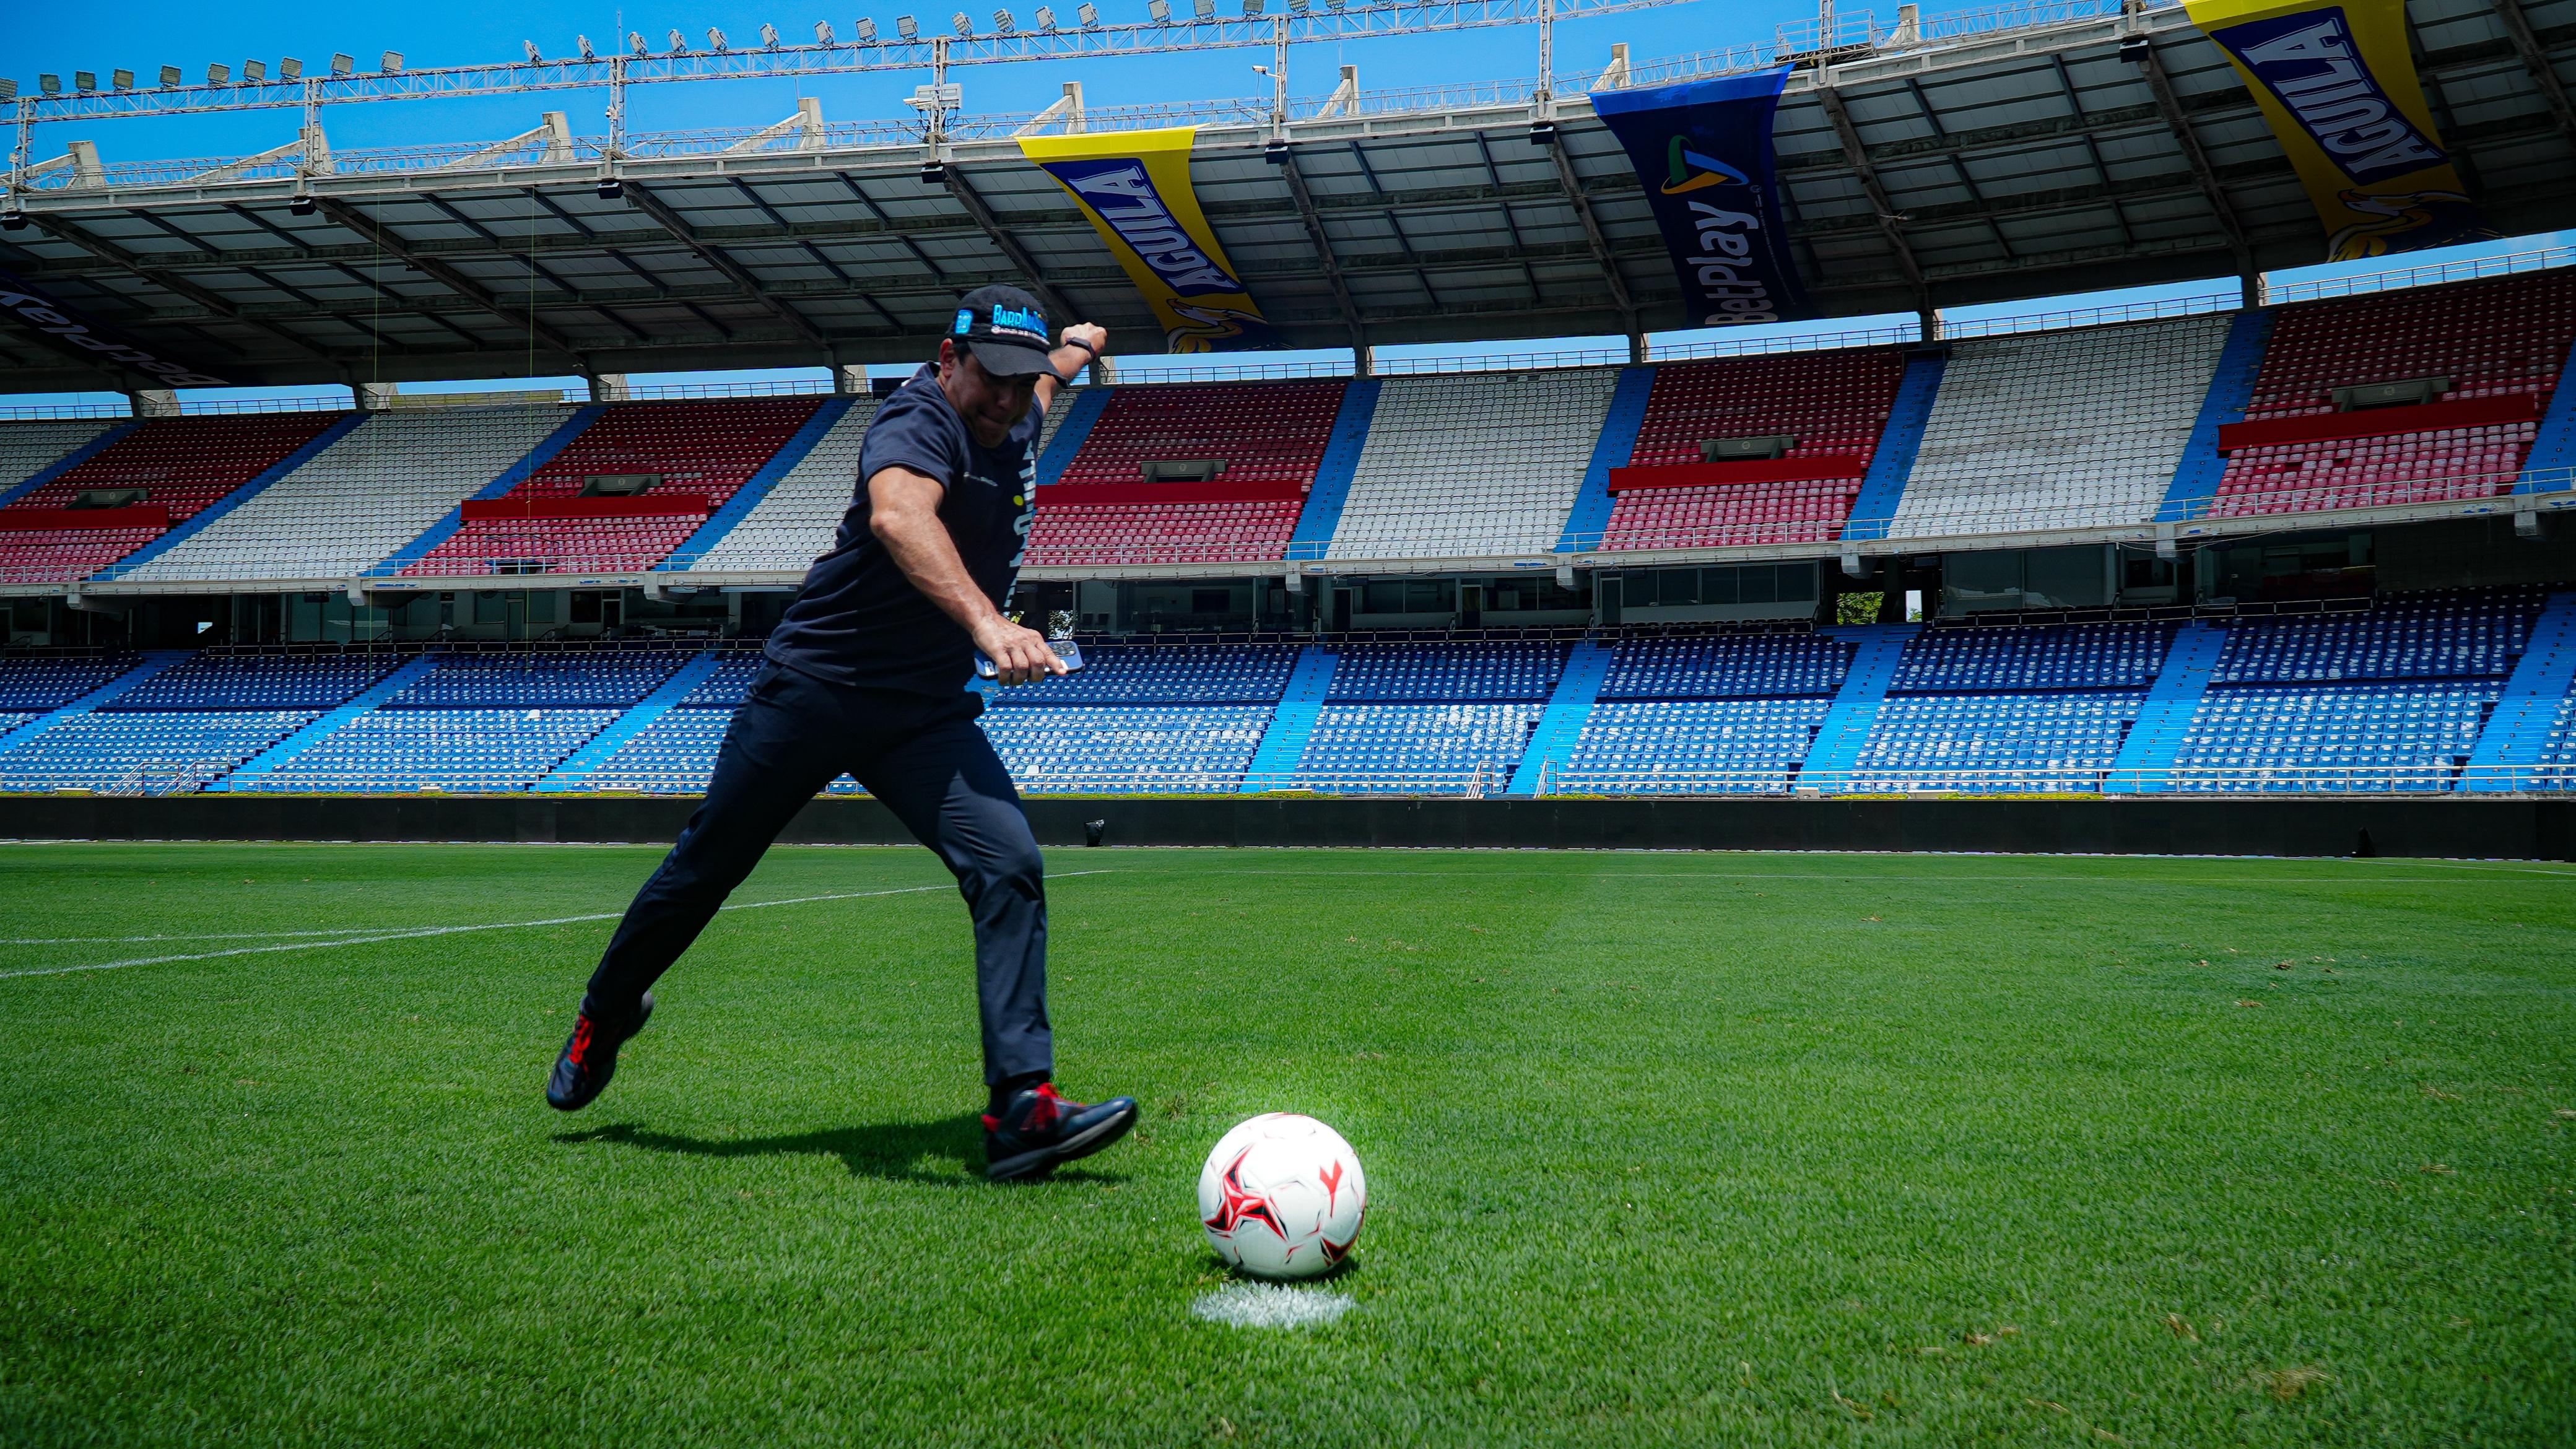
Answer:
<svg viewBox="0 0 2576 1449"><path fill-rule="evenodd" d="M1342 1134L1265 1111L1226 1132L1198 1171L1198 1220L1216 1256L1257 1279L1311 1279L1350 1256L1368 1178Z"/></svg>

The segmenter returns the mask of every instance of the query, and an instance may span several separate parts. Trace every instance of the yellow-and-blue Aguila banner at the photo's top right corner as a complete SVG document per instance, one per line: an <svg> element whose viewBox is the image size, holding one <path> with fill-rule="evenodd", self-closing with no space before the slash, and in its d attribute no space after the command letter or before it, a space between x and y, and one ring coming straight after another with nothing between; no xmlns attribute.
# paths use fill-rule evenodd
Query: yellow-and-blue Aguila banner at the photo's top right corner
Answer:
<svg viewBox="0 0 2576 1449"><path fill-rule="evenodd" d="M2326 260L2499 235L2460 186L2406 49L2406 0L2184 0L2290 152Z"/></svg>

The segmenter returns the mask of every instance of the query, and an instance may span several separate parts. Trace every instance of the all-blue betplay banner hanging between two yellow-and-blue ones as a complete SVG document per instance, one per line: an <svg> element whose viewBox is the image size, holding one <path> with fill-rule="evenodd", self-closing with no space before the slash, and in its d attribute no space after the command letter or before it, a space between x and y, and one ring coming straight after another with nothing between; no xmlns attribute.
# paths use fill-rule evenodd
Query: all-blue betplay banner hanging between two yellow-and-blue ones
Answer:
<svg viewBox="0 0 2576 1449"><path fill-rule="evenodd" d="M1692 327L1816 315L1790 263L1772 175L1772 111L1785 85L1780 67L1592 93L1592 113L1646 186Z"/></svg>

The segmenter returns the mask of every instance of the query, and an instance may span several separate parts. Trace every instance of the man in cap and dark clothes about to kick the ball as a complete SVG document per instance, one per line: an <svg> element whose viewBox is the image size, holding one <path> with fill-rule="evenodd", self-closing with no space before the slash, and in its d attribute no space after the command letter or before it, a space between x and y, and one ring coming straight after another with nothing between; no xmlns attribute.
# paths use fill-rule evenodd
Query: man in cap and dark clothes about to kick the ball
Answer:
<svg viewBox="0 0 2576 1449"><path fill-rule="evenodd" d="M974 918L984 1013L984 1173L1033 1178L1108 1147L1136 1101L1064 1101L1046 1021L1046 877L1010 771L966 691L981 650L1005 686L1061 676L1046 637L1002 616L1036 516L1033 446L1046 405L1108 333L1048 345L1038 299L969 291L940 361L868 423L858 495L832 552L770 632L716 755L706 802L618 923L546 1083L562 1111L608 1085L618 1047L652 1016L652 982L752 874L788 817L850 771L938 851Z"/></svg>

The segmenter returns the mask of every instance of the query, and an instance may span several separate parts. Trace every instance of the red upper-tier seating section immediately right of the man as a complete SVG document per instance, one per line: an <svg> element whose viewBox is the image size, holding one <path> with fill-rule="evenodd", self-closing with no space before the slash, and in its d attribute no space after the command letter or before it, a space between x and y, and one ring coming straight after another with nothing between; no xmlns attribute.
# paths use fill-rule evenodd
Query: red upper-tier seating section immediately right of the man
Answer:
<svg viewBox="0 0 2576 1449"><path fill-rule="evenodd" d="M1038 492L1028 562L1283 557L1345 387L1327 379L1113 389L1082 449Z"/></svg>

